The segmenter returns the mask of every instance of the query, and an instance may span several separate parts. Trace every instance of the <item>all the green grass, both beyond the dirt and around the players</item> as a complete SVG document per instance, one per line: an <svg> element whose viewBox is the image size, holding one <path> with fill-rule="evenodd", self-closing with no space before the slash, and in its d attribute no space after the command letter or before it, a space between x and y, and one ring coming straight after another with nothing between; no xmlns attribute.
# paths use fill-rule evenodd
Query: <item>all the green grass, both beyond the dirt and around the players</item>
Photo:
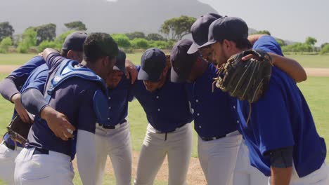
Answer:
<svg viewBox="0 0 329 185"><path fill-rule="evenodd" d="M29 60L33 55L27 54L0 54L1 64L23 64ZM128 54L127 58L132 60L135 64L140 63L141 53ZM328 67L329 68L329 55L288 55L295 60L299 61L303 67ZM14 63L8 62L12 61ZM1 66L0 66L1 67ZM8 74L0 74L0 80L6 77ZM311 77L309 76L306 82L299 83L299 88L304 93L304 97L309 103L309 107L314 116L316 126L319 134L325 138L325 141L329 143L329 77ZM13 104L0 97L0 135L6 132L6 125L11 120L13 114ZM141 144L146 132L146 115L139 103L135 100L129 104L129 122L131 130L131 141L134 151L141 149ZM193 157L198 157L196 140L197 135L194 132L194 144L193 144ZM327 155L328 157L329 155ZM79 174L75 174L75 184L81 184L79 180ZM1 184L1 182L0 182ZM105 184L115 184L115 179L112 172L108 172L105 175ZM167 184L164 181L156 181L155 184Z"/></svg>

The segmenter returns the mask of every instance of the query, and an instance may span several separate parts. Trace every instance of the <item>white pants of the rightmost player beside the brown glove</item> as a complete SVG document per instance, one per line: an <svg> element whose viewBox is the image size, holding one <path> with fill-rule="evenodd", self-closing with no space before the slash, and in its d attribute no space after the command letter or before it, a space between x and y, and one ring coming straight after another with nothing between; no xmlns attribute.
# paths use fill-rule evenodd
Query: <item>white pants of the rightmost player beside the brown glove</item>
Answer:
<svg viewBox="0 0 329 185"><path fill-rule="evenodd" d="M271 185L271 177L269 179L269 185ZM323 162L322 166L308 174L305 177L299 178L298 174L295 170L295 167L292 166L292 176L290 179L290 185L328 185L329 184L329 167L325 162Z"/></svg>

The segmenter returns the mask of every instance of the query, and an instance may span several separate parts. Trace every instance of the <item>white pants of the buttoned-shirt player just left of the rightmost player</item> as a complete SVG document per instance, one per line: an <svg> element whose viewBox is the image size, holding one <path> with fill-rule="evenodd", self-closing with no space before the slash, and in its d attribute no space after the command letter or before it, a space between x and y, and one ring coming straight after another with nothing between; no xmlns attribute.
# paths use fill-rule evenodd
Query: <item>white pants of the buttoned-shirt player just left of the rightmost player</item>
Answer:
<svg viewBox="0 0 329 185"><path fill-rule="evenodd" d="M233 184L233 172L242 135L234 131L220 139L198 137L198 156L208 185Z"/></svg>

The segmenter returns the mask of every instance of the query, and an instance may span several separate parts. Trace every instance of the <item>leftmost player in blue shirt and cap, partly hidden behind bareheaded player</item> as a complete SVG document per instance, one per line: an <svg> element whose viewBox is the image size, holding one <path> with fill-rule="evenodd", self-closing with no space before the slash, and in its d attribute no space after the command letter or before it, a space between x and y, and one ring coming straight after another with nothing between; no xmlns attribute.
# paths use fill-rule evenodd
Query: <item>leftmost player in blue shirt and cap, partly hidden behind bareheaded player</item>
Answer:
<svg viewBox="0 0 329 185"><path fill-rule="evenodd" d="M86 34L82 32L74 32L68 35L63 43L61 54L72 60L81 60L82 45L85 39ZM81 56L79 56L79 53L81 53ZM15 71L1 81L1 95L6 100L15 104L13 118L18 114L23 122L33 123L33 118L28 116L27 111L20 103L20 93L26 88L36 88L40 92L43 92L48 71L48 67L42 57L33 57L32 60L24 64L22 67L15 69ZM14 160L22 150L22 144L19 142L14 143L8 133L6 133L4 135L3 143L0 145L0 150L0 179L7 184L13 184L15 168Z"/></svg>

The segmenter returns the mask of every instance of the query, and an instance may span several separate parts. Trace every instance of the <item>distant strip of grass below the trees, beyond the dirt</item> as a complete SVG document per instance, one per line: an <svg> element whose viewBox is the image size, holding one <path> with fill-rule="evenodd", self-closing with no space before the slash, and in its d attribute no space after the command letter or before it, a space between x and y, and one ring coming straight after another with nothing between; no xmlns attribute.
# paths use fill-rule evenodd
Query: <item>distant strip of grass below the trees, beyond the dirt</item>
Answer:
<svg viewBox="0 0 329 185"><path fill-rule="evenodd" d="M127 53L127 59L133 61L135 64L141 63L141 55L143 53ZM0 54L0 65L1 64L24 64L30 60L34 54ZM329 68L329 55L286 55L297 60L303 67L324 67Z"/></svg>

